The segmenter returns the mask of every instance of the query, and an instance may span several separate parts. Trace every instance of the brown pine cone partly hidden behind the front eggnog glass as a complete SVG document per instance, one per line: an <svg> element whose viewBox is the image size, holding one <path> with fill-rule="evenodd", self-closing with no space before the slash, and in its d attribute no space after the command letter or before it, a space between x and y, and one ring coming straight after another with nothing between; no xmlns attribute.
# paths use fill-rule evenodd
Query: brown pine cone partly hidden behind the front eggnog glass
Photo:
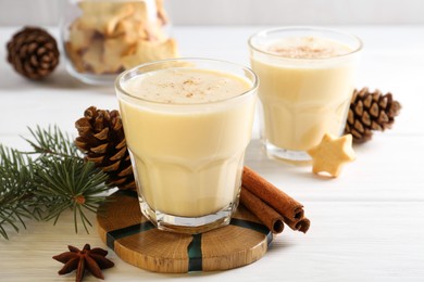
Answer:
<svg viewBox="0 0 424 282"><path fill-rule="evenodd" d="M79 137L75 144L86 158L108 174L108 185L135 190L129 153L126 146L122 119L117 111L88 107L84 117L75 123Z"/></svg>

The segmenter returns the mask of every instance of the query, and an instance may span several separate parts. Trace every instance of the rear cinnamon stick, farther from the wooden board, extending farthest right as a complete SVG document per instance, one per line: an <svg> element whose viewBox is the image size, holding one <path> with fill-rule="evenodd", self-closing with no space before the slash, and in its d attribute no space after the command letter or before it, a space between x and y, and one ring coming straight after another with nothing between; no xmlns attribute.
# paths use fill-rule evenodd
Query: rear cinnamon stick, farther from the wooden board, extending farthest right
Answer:
<svg viewBox="0 0 424 282"><path fill-rule="evenodd" d="M261 200L259 202L264 202L277 211L283 217L284 222L292 230L303 233L308 231L311 222L304 217L303 205L246 166L242 172L242 188ZM259 202L255 205L261 205ZM247 208L254 207L247 206Z"/></svg>

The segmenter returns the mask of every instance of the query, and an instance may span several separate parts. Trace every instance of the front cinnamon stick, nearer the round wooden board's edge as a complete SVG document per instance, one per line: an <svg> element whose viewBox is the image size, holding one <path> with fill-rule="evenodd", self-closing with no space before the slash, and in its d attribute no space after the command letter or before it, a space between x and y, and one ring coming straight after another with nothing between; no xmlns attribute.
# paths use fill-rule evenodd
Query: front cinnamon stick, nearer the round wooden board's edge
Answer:
<svg viewBox="0 0 424 282"><path fill-rule="evenodd" d="M240 191L240 203L255 215L273 233L283 232L283 216L242 187Z"/></svg>

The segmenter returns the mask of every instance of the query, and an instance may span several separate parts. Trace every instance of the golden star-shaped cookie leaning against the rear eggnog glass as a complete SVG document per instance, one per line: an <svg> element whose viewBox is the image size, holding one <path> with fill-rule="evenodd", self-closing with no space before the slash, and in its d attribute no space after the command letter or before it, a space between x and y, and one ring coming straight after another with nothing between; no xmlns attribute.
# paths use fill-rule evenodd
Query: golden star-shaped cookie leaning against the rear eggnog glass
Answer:
<svg viewBox="0 0 424 282"><path fill-rule="evenodd" d="M312 171L314 174L325 171L332 177L338 177L342 165L356 159L352 136L346 134L336 138L326 133L320 144L308 150L308 154L312 157Z"/></svg>

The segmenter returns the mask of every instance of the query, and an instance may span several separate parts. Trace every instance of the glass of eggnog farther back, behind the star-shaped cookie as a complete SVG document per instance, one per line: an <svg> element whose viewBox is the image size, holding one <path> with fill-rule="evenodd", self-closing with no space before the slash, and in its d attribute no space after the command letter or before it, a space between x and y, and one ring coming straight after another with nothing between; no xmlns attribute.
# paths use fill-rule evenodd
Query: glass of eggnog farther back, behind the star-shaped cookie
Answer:
<svg viewBox="0 0 424 282"><path fill-rule="evenodd" d="M261 140L270 157L309 161L325 133L344 131L361 40L341 31L282 27L249 39L259 76Z"/></svg>

